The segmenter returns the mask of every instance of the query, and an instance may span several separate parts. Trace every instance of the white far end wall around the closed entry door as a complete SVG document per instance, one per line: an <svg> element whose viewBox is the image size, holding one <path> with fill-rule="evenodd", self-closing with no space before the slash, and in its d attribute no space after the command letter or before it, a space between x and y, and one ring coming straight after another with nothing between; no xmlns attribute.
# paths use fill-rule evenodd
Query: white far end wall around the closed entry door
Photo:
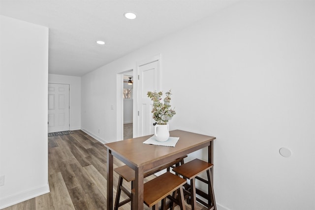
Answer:
<svg viewBox="0 0 315 210"><path fill-rule="evenodd" d="M70 130L81 129L81 77L48 74L48 83L70 85Z"/></svg>

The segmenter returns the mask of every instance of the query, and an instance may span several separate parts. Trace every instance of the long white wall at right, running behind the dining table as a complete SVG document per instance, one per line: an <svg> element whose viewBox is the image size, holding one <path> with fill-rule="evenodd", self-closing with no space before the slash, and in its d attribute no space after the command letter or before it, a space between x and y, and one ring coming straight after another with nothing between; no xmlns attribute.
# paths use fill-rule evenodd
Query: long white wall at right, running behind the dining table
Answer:
<svg viewBox="0 0 315 210"><path fill-rule="evenodd" d="M116 74L161 54L171 129L217 137L220 210L313 210L314 14L314 1L243 1L105 65L82 77L82 126L115 141Z"/></svg>

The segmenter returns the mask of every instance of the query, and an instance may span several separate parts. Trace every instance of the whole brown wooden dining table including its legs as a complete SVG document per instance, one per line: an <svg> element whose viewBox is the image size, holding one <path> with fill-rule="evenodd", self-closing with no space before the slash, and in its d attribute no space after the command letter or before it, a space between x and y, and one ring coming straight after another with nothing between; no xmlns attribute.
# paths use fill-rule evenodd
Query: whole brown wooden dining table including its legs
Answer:
<svg viewBox="0 0 315 210"><path fill-rule="evenodd" d="M175 147L143 144L151 136L105 144L107 149L107 210L113 210L114 157L134 170L134 210L143 210L143 174L145 171L206 147L208 148L208 162L213 163L213 140L216 139L215 137L173 130L170 131L170 136L179 137Z"/></svg>

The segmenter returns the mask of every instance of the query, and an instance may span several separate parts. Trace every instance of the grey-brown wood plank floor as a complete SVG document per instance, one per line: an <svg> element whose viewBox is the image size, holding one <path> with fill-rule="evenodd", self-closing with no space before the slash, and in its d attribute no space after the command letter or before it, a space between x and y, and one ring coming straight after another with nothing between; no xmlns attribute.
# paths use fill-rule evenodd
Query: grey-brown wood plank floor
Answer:
<svg viewBox="0 0 315 210"><path fill-rule="evenodd" d="M114 158L114 168L124 165ZM50 193L3 210L105 210L106 150L81 130L73 134L48 137ZM154 178L150 176L145 181ZM114 173L114 197L118 176ZM130 190L130 183L124 182ZM126 199L122 193L121 199ZM187 206L190 209L190 206ZM145 210L149 210L144 206ZM178 210L178 207L176 207ZM201 205L198 210L204 210ZM130 210L130 203L120 210Z"/></svg>

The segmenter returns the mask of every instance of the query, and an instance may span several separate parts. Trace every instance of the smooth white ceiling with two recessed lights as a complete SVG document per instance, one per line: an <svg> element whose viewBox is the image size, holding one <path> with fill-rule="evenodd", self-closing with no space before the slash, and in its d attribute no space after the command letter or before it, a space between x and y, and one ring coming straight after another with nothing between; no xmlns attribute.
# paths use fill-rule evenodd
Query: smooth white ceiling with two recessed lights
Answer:
<svg viewBox="0 0 315 210"><path fill-rule="evenodd" d="M0 14L48 27L49 73L81 76L235 1L0 0Z"/></svg>

